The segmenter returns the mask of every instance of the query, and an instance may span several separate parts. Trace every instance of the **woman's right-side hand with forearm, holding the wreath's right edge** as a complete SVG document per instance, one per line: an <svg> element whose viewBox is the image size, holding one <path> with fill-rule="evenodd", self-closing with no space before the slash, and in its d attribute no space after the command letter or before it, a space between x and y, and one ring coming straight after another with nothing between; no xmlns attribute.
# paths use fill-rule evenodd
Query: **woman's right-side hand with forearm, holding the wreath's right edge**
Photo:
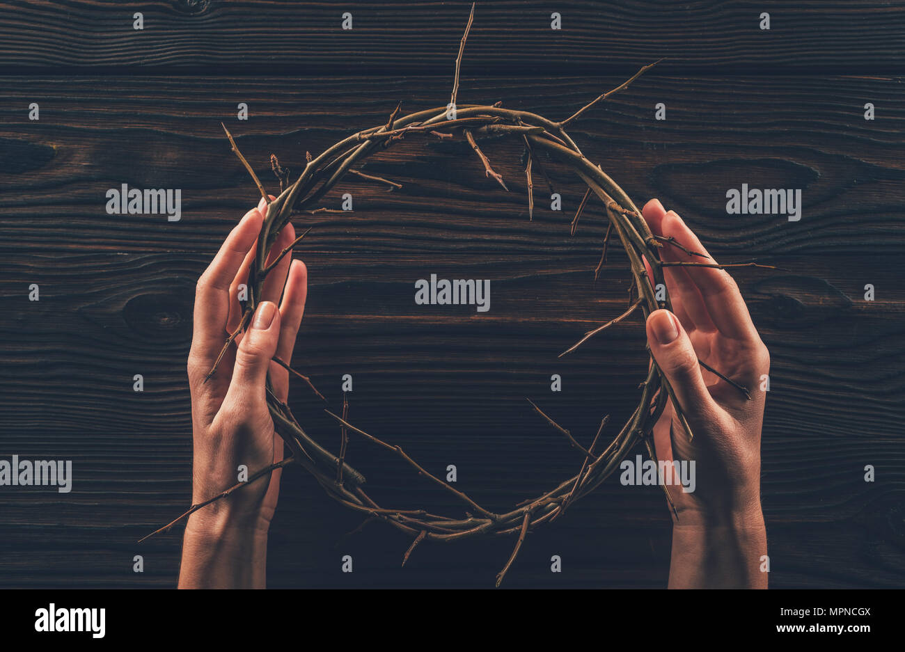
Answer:
<svg viewBox="0 0 905 652"><path fill-rule="evenodd" d="M658 200L644 206L643 217L654 235L675 238L685 248L709 255L679 215L667 213ZM716 262L666 243L661 255L669 261ZM760 506L766 392L760 387L769 373L767 346L726 270L663 269L673 312L651 313L647 338L694 437L689 440L670 402L654 426L653 439L658 459L695 463L693 492L684 491L678 481L669 487L678 512L670 586L766 588L767 573L760 571L767 554ZM703 368L699 359L746 387L750 400Z"/></svg>

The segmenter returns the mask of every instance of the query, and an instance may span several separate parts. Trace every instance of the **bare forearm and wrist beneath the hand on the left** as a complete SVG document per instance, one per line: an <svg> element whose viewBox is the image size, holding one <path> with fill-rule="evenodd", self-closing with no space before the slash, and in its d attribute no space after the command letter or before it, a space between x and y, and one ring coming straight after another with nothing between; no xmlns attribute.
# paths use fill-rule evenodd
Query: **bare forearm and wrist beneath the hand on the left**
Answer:
<svg viewBox="0 0 905 652"><path fill-rule="evenodd" d="M266 527L228 514L205 518L203 511L192 515L186 524L179 588L265 588Z"/></svg>

